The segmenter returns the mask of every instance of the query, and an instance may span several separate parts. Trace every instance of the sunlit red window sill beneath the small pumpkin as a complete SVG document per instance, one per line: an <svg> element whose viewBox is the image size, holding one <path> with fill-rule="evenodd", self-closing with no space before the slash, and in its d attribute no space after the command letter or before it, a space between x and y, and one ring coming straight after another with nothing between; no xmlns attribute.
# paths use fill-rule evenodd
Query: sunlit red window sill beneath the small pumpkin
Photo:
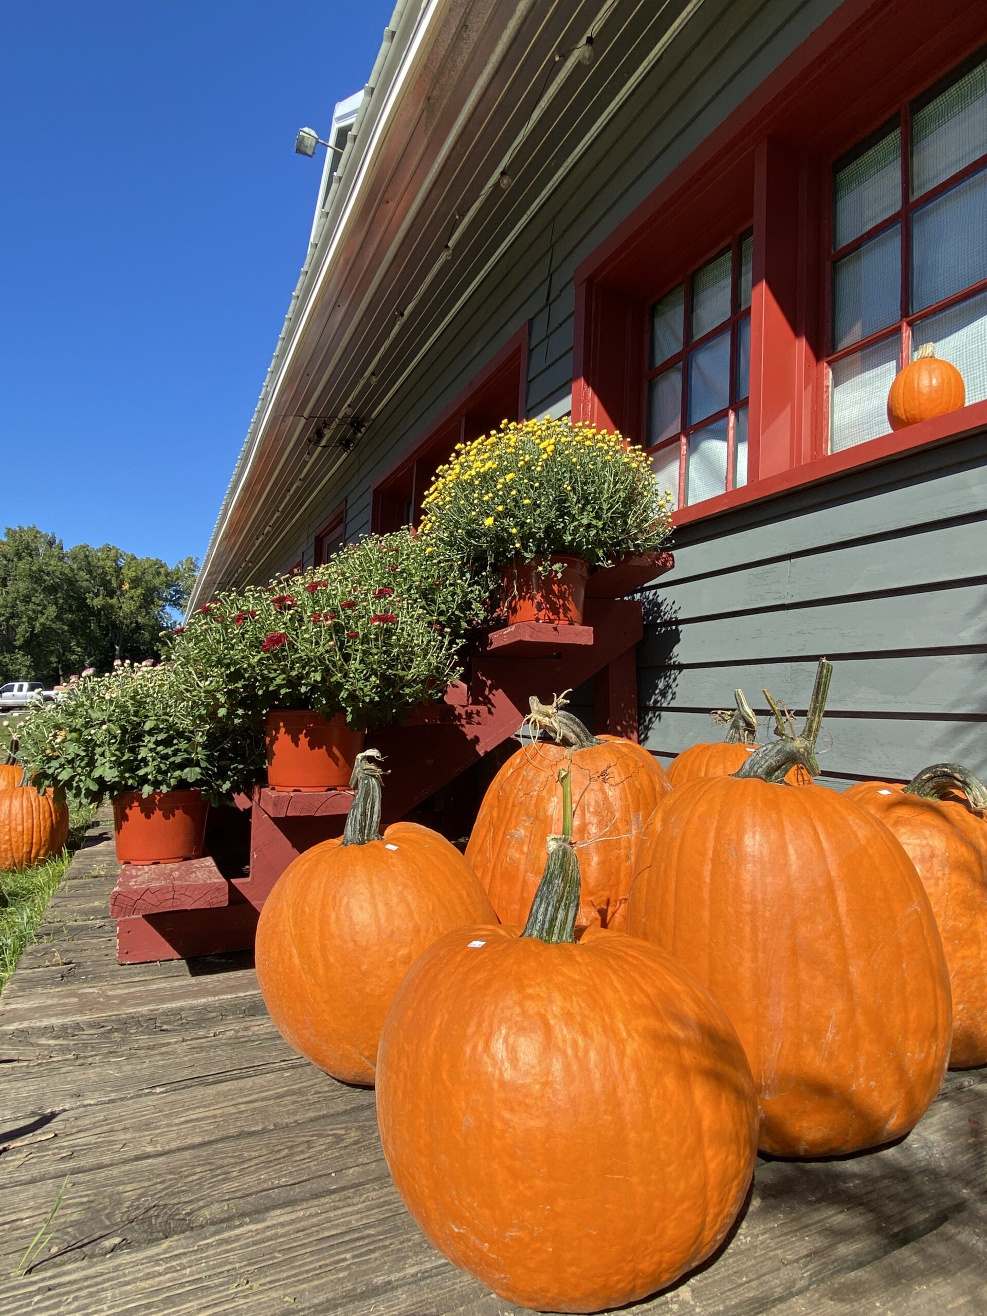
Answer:
<svg viewBox="0 0 987 1316"><path fill-rule="evenodd" d="M946 416L936 416L925 420L920 425L909 425L892 434L882 434L867 443L857 447L848 447L842 453L830 453L815 462L803 466L794 466L791 470L771 475L767 479L746 484L740 490L730 490L729 494L720 494L717 497L707 499L704 503L694 503L692 507L683 507L675 512L672 522L675 525L691 525L694 521L704 521L711 516L720 516L732 512L734 508L746 507L749 503L762 503L767 499L779 497L792 490L805 488L809 484L820 484L825 480L836 479L848 471L862 470L867 466L878 466L882 462L894 461L905 453L912 453L923 447L933 447L937 443L946 443L966 434L987 429L987 401L971 403L961 407L959 411L949 412Z"/></svg>

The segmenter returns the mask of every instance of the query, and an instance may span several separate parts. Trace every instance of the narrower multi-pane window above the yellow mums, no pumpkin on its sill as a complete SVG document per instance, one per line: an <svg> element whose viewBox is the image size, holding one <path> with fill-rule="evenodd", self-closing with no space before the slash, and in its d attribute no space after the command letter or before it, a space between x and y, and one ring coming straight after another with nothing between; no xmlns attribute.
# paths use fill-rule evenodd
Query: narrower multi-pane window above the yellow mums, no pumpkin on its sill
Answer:
<svg viewBox="0 0 987 1316"><path fill-rule="evenodd" d="M747 483L751 251L740 234L651 307L647 446L675 507Z"/></svg>

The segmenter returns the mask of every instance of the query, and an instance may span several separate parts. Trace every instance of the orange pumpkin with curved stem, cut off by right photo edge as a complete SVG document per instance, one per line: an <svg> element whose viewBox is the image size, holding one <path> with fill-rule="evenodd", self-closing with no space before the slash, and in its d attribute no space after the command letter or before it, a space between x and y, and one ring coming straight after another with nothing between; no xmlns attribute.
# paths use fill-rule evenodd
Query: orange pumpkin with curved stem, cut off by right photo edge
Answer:
<svg viewBox="0 0 987 1316"><path fill-rule="evenodd" d="M908 786L861 782L846 797L894 832L929 895L953 992L950 1065L987 1065L987 787L934 763Z"/></svg>

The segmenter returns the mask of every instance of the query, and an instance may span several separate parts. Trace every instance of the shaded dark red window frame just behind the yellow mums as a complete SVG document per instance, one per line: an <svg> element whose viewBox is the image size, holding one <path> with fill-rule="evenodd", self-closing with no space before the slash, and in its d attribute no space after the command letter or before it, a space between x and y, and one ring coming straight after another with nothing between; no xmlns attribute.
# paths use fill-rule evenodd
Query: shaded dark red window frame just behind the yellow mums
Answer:
<svg viewBox="0 0 987 1316"><path fill-rule="evenodd" d="M513 380L516 379L516 393ZM425 482L416 465L422 455L437 442L443 442L443 432L449 432L451 442L458 442L465 436L466 421L472 407L482 404L484 395L497 386L503 387L504 397L511 392L512 401L516 397L516 416L500 416L500 420L524 420L528 408L528 322L512 334L500 351L494 355L487 365L478 371L470 383L462 388L455 397L445 407L440 415L426 426L412 442L404 447L400 455L384 471L374 486L371 526L375 532L395 528L388 524L388 497L399 495L391 494L400 490L407 500L407 491L411 490L413 508L417 509L421 495L425 492ZM513 407L511 408L513 411ZM458 425L458 429L457 429ZM468 436L474 437L474 436ZM416 515L417 521L417 515Z"/></svg>

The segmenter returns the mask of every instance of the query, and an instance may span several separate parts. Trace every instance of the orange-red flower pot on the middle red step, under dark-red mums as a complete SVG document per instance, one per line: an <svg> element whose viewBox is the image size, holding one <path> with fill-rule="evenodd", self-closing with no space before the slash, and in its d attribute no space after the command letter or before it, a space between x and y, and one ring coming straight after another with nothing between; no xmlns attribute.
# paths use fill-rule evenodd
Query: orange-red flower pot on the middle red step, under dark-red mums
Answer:
<svg viewBox="0 0 987 1316"><path fill-rule="evenodd" d="M265 728L267 784L274 791L332 791L350 784L363 732L342 713L326 721L304 708L272 708Z"/></svg>

